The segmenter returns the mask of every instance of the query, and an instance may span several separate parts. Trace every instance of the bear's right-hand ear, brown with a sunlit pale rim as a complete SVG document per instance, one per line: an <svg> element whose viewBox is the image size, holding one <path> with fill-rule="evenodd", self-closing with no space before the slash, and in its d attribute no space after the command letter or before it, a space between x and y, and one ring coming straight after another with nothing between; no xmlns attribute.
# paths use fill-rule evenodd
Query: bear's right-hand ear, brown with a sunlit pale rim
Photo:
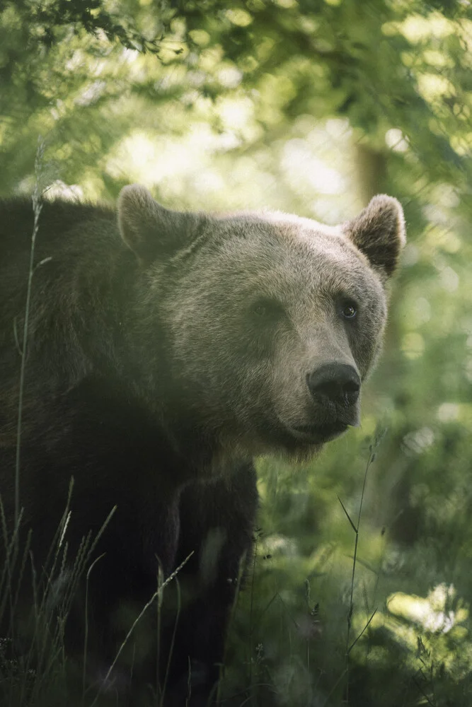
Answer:
<svg viewBox="0 0 472 707"><path fill-rule="evenodd" d="M405 218L397 199L377 194L357 218L343 223L342 228L384 279L393 275L406 243Z"/></svg>

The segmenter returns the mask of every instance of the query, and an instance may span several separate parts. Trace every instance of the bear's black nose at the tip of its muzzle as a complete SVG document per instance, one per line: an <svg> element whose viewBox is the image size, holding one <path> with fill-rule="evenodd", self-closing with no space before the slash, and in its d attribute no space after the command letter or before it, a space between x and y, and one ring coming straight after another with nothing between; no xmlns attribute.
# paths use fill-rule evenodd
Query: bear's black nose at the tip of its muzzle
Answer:
<svg viewBox="0 0 472 707"><path fill-rule="evenodd" d="M316 402L333 402L345 407L355 404L361 387L357 371L346 363L325 363L307 373L306 382Z"/></svg>

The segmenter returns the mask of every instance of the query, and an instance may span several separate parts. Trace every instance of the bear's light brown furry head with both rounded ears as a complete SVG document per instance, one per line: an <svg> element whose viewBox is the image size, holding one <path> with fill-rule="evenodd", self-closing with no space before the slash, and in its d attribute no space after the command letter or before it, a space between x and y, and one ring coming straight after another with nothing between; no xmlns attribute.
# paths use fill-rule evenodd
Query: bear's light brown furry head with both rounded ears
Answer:
<svg viewBox="0 0 472 707"><path fill-rule="evenodd" d="M306 457L359 423L405 243L396 199L376 196L354 220L323 226L270 211L171 211L132 185L118 223L142 272L143 387L175 429L238 453ZM153 332L165 344L149 364Z"/></svg>

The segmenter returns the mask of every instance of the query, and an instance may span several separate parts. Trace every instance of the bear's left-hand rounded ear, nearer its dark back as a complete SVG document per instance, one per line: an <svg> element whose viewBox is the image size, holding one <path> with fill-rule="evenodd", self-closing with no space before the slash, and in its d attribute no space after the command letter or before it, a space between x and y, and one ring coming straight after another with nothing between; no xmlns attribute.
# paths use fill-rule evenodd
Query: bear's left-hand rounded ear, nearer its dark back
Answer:
<svg viewBox="0 0 472 707"><path fill-rule="evenodd" d="M165 209L139 184L122 188L117 211L121 237L143 265L182 247L200 220L197 214Z"/></svg>

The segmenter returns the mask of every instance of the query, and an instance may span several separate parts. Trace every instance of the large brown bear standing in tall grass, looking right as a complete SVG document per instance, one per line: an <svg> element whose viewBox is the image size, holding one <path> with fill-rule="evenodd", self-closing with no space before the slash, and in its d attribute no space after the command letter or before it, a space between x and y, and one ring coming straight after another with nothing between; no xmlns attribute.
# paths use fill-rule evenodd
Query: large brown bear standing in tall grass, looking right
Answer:
<svg viewBox="0 0 472 707"><path fill-rule="evenodd" d="M12 199L0 214L0 491L12 527L33 211ZM121 607L142 608L160 568L169 576L193 553L178 573L175 636L173 619L161 627L161 681L164 704L207 704L251 552L253 457L305 459L359 423L405 242L401 205L380 195L354 220L323 226L270 211L171 211L132 185L117 214L44 201L38 223L19 537L32 529L38 577L74 477L60 588L81 539L116 506L89 558L100 556L86 582L89 666L113 660L133 620ZM25 591L30 582L25 571ZM79 652L83 626L71 612ZM132 690L156 682L148 643Z"/></svg>

